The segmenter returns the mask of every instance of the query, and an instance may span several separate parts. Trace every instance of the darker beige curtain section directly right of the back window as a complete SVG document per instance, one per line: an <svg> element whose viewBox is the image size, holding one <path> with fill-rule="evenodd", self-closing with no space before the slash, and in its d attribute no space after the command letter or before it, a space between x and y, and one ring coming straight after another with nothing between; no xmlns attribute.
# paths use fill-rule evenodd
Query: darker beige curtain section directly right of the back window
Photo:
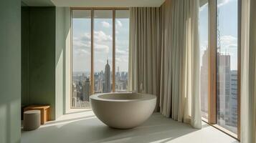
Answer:
<svg viewBox="0 0 256 143"><path fill-rule="evenodd" d="M160 8L137 7L130 12L128 89L159 97Z"/></svg>

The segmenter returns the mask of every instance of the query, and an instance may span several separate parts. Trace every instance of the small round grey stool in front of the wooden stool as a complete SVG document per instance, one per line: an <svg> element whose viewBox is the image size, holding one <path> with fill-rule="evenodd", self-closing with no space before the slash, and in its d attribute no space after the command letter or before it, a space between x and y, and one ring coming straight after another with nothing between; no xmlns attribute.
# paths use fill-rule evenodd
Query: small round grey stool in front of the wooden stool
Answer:
<svg viewBox="0 0 256 143"><path fill-rule="evenodd" d="M23 129L25 131L34 130L40 127L41 117L39 110L29 110L24 112Z"/></svg>

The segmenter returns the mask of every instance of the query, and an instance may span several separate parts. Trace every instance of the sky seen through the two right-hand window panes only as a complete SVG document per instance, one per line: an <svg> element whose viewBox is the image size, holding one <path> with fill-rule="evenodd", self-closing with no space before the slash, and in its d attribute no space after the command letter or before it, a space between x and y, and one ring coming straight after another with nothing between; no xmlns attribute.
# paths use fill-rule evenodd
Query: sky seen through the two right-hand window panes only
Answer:
<svg viewBox="0 0 256 143"><path fill-rule="evenodd" d="M222 54L231 56L231 69L237 70L237 0L217 0ZM201 54L208 45L208 4L199 9ZM202 59L201 59L202 60Z"/></svg>

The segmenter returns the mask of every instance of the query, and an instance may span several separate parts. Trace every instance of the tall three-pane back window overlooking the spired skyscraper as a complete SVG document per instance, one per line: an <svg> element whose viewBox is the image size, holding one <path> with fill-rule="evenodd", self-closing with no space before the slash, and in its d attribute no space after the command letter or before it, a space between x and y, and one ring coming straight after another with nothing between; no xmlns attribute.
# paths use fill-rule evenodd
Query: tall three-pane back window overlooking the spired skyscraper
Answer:
<svg viewBox="0 0 256 143"><path fill-rule="evenodd" d="M72 10L71 107L90 107L90 95L126 92L128 10Z"/></svg>

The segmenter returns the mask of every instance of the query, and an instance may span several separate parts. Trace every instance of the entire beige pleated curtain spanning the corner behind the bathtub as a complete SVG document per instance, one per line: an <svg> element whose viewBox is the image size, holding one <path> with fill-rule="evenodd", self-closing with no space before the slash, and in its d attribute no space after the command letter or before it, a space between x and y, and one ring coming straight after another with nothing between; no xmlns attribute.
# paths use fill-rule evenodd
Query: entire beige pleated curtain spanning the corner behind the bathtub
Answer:
<svg viewBox="0 0 256 143"><path fill-rule="evenodd" d="M129 89L156 94L166 117L201 128L199 1L131 8Z"/></svg>

